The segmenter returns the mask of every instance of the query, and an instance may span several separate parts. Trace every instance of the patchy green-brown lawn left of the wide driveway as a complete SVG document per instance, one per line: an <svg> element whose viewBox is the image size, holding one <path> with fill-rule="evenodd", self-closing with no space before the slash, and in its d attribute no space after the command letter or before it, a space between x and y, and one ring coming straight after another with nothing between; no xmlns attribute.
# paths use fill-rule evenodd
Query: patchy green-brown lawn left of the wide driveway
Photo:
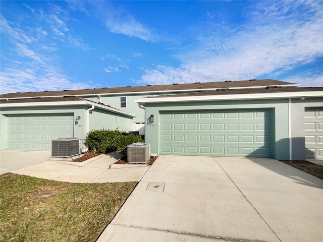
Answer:
<svg viewBox="0 0 323 242"><path fill-rule="evenodd" d="M136 182L72 184L0 176L0 241L95 241ZM41 197L44 191L56 194Z"/></svg>

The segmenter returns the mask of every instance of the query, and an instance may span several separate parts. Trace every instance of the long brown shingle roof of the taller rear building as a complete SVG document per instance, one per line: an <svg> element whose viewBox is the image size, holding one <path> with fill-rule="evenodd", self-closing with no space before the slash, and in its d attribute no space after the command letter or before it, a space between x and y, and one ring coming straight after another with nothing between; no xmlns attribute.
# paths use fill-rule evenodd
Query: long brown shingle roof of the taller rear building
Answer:
<svg viewBox="0 0 323 242"><path fill-rule="evenodd" d="M227 81L227 82L196 82L187 84L168 84L168 85L147 85L136 87L112 87L82 90L65 90L65 91L42 91L42 92L22 92L8 93L0 95L0 98L26 98L26 97L45 97L45 96L87 96L94 94L114 94L114 93L140 93L140 92L160 92L160 91L181 91L181 90L203 90L212 88L237 88L237 87L256 87L256 86L282 86L297 85L295 83L277 81L272 79L249 80L249 81Z"/></svg>

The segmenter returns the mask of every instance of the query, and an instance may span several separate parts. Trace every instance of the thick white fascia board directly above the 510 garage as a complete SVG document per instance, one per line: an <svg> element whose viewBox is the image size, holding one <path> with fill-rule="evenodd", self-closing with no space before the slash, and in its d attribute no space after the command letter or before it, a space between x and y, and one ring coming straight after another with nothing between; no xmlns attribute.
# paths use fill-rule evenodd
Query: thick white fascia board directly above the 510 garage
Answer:
<svg viewBox="0 0 323 242"><path fill-rule="evenodd" d="M221 101L221 100L251 100L251 99L282 99L297 97L323 97L322 91L311 92L278 92L278 93L251 93L251 94L231 94L231 95L208 95L208 96L188 96L188 97L154 97L138 98L137 103L158 103L158 102L200 102L200 101Z"/></svg>

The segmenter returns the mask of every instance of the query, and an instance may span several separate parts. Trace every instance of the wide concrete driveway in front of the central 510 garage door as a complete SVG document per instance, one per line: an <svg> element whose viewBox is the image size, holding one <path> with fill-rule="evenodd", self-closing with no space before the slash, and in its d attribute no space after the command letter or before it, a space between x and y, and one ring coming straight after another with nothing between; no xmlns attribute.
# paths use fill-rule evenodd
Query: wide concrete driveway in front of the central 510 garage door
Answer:
<svg viewBox="0 0 323 242"><path fill-rule="evenodd" d="M160 156L97 241L323 241L322 189L273 159Z"/></svg>

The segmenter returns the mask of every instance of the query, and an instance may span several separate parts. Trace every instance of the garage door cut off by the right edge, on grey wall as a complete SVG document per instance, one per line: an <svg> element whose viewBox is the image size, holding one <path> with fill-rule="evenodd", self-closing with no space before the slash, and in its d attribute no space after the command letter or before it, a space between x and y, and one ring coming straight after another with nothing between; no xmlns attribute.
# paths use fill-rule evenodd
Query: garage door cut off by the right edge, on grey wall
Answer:
<svg viewBox="0 0 323 242"><path fill-rule="evenodd" d="M305 109L306 159L323 159L323 107Z"/></svg>

